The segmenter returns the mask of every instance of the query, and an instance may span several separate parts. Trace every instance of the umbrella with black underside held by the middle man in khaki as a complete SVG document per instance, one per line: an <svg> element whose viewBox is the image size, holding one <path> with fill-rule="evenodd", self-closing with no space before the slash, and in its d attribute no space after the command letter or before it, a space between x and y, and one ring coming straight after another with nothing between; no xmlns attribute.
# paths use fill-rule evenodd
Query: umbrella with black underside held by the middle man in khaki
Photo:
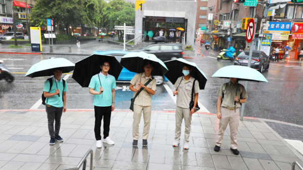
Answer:
<svg viewBox="0 0 303 170"><path fill-rule="evenodd" d="M121 58L121 65L131 72L141 73L144 72L144 60L154 64L154 69L151 75L164 75L168 69L164 62L156 57L154 54L145 52L131 52Z"/></svg>

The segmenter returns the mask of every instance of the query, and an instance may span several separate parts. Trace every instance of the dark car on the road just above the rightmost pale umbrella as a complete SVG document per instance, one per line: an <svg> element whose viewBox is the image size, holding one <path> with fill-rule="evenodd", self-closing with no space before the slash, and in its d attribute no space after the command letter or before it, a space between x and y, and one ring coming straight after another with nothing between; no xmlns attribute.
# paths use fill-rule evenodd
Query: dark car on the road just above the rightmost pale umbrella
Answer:
<svg viewBox="0 0 303 170"><path fill-rule="evenodd" d="M248 65L249 51L241 52L235 60L234 65ZM250 67L262 72L269 68L269 58L263 51L252 51Z"/></svg>

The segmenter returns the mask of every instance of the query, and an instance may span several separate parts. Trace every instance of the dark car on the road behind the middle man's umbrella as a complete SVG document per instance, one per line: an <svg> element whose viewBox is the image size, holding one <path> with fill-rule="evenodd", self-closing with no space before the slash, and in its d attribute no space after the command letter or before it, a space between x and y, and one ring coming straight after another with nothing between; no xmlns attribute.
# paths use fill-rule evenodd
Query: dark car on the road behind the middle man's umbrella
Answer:
<svg viewBox="0 0 303 170"><path fill-rule="evenodd" d="M134 52L140 52L140 51L150 54L155 54L162 61L169 61L177 58L183 58L183 54L184 54L181 45L170 44L170 43L149 44Z"/></svg>

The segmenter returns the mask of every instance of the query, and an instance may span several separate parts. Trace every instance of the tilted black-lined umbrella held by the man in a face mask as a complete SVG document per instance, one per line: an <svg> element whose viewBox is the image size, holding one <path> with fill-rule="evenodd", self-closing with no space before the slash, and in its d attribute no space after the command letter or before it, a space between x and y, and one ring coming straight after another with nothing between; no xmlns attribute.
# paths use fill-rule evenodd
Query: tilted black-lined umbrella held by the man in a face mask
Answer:
<svg viewBox="0 0 303 170"><path fill-rule="evenodd" d="M204 74L203 71L201 71L198 66L194 62L186 61L183 58L178 58L176 60L171 61L165 61L165 65L167 66L168 70L165 76L173 83L175 84L177 79L180 76L183 76L182 68L183 64L188 64L192 66L192 71L190 73L190 76L196 78L199 81L199 88L200 90L204 90L205 84L207 81L207 77Z"/></svg>

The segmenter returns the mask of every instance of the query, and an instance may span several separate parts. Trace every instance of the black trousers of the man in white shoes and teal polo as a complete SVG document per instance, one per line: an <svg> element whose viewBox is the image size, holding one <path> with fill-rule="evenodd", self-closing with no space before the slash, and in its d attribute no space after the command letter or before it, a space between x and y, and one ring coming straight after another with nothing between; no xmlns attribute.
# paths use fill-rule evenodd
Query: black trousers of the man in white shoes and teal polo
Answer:
<svg viewBox="0 0 303 170"><path fill-rule="evenodd" d="M107 138L110 133L110 124L111 124L111 115L112 115L112 106L107 107L98 107L94 106L95 110L95 138L96 140L101 140L101 121L102 117L104 117L104 125L103 125L103 138Z"/></svg>

